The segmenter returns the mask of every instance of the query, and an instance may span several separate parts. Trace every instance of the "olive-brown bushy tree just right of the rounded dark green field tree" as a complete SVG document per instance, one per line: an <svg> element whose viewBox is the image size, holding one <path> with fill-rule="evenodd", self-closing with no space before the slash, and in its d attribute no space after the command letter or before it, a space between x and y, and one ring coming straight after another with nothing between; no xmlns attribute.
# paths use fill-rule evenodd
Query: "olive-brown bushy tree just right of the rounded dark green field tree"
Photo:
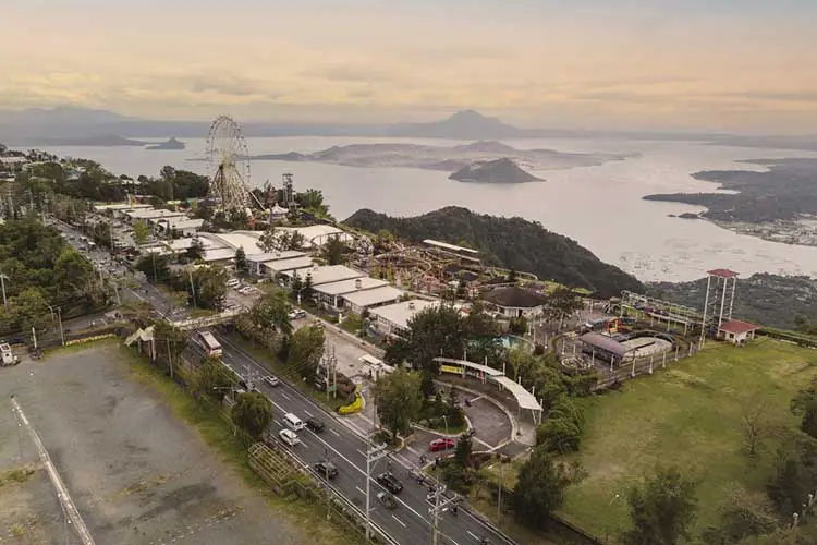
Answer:
<svg viewBox="0 0 817 545"><path fill-rule="evenodd" d="M775 508L767 497L741 485L732 485L727 495L727 502L718 509L718 524L707 528L702 535L705 543L728 545L778 530Z"/></svg>

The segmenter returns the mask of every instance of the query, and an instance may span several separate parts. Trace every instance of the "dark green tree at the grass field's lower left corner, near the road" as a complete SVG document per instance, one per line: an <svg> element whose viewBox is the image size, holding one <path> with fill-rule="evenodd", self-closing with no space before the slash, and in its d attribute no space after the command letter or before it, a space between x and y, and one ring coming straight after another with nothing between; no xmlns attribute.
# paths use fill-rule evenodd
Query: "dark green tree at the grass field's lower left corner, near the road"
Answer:
<svg viewBox="0 0 817 545"><path fill-rule="evenodd" d="M547 450L537 447L522 464L513 489L513 512L520 522L534 529L546 528L549 514L564 504L564 491L578 477L577 467L568 467Z"/></svg>

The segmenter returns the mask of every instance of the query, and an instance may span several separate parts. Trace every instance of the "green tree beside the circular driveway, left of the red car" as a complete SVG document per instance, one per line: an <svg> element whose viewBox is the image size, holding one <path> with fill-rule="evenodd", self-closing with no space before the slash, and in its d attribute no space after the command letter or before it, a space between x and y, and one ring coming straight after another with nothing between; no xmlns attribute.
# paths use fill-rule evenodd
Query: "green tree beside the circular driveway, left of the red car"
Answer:
<svg viewBox="0 0 817 545"><path fill-rule="evenodd" d="M399 368L375 383L375 403L380 422L393 437L411 429L419 414L423 397L419 391L420 375Z"/></svg>

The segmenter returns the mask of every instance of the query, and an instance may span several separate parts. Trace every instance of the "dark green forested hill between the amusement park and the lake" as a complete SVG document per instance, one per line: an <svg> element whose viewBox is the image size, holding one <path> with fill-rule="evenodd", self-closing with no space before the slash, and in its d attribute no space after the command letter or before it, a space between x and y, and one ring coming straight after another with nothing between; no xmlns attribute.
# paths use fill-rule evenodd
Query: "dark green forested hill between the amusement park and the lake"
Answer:
<svg viewBox="0 0 817 545"><path fill-rule="evenodd" d="M344 223L375 233L386 229L412 242L424 239L465 242L484 252L492 264L534 272L542 280L586 288L605 296L644 288L634 277L602 263L574 240L519 217L479 215L449 206L413 218L392 218L365 208Z"/></svg>

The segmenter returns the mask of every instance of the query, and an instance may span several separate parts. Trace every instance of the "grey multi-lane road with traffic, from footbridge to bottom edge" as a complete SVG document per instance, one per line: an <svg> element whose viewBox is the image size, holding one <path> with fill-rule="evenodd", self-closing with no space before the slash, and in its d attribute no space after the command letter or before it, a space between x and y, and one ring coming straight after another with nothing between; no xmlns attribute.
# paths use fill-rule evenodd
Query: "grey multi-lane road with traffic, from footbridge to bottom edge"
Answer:
<svg viewBox="0 0 817 545"><path fill-rule="evenodd" d="M248 366L256 373L268 374L260 363L230 342L229 338L218 332L216 336L222 344L224 364L234 372L243 374L244 366ZM302 420L314 416L326 424L326 429L320 434L315 434L309 429L298 432L302 444L292 450L303 462L310 465L327 458L334 463L340 474L331 481L331 485L357 505L362 511L365 511L366 440L362 437L362 431L353 431L334 415L327 413L312 399L306 398L283 382L275 388L264 383L258 387L261 392L270 398L276 408L273 423L276 434L282 428L281 419L283 414L290 412ZM399 458L395 457L394 460L394 462L391 462L392 472L404 485L403 491L397 496L399 506L390 511L377 502L375 495L382 492L383 488L373 479L370 482L371 520L401 545L425 545L430 542L431 536L431 522L428 512L430 504L426 500L428 488L426 485L411 480L408 476L410 468L403 465ZM377 475L386 471L387 463L386 460L377 462L371 474ZM484 536L488 537L490 543L493 544L510 543L487 529L464 508L460 509L458 516L450 512L440 514L438 543L477 544Z"/></svg>

